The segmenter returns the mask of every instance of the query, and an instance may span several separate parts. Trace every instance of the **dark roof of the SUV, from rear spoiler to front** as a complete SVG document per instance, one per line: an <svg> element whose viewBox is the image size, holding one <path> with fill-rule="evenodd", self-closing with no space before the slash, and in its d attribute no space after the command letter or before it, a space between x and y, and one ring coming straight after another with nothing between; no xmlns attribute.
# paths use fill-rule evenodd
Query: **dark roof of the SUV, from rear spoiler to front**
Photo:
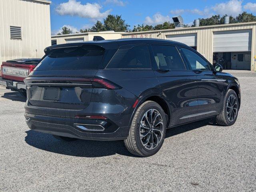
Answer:
<svg viewBox="0 0 256 192"><path fill-rule="evenodd" d="M129 44L141 44L141 43L161 43L161 44L175 44L175 45L183 45L183 43L179 43L176 41L164 40L164 39L153 39L153 38L122 38L116 40L99 40L99 41L86 41L86 42L78 42L78 43L69 43L69 44L58 44L54 46L47 47L44 52L48 52L49 50L64 48L64 47L72 47L72 46L83 46L83 45L97 45L101 46L105 49L117 49L123 45Z"/></svg>

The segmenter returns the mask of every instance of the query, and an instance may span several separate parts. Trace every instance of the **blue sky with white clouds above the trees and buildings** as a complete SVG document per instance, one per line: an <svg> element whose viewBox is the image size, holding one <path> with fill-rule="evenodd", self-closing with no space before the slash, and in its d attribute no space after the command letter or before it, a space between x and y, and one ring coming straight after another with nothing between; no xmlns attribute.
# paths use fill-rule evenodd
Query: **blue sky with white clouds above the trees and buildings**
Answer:
<svg viewBox="0 0 256 192"><path fill-rule="evenodd" d="M52 0L51 30L56 34L63 26L74 32L92 27L108 14L122 15L132 29L137 24L156 25L172 22L181 15L186 24L212 14L237 16L243 11L256 15L255 0Z"/></svg>

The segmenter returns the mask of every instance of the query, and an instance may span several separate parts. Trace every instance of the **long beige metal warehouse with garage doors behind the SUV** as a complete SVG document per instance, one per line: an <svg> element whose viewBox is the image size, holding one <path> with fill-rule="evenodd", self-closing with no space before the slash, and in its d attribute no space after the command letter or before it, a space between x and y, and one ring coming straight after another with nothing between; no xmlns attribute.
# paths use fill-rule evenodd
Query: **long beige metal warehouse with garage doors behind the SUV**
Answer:
<svg viewBox="0 0 256 192"><path fill-rule="evenodd" d="M88 41L94 35L105 39L160 38L174 40L193 47L211 63L224 69L256 71L256 22L175 28L130 33L86 33L52 36L53 44Z"/></svg>

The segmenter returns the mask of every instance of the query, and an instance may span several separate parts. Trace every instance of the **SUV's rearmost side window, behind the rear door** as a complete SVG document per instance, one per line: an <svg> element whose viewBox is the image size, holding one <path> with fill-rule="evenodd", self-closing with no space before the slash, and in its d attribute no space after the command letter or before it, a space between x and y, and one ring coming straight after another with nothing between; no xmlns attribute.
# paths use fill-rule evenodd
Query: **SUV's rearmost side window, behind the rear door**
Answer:
<svg viewBox="0 0 256 192"><path fill-rule="evenodd" d="M151 68L148 46L138 45L130 49L117 50L106 68Z"/></svg>

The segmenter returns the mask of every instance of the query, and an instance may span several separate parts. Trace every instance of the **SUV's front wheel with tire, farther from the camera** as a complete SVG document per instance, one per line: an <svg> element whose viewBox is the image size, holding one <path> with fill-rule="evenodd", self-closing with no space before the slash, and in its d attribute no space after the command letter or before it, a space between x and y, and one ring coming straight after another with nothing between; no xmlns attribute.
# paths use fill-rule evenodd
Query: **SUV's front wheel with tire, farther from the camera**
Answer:
<svg viewBox="0 0 256 192"><path fill-rule="evenodd" d="M230 100L230 98L231 98L231 100ZM232 99L234 99L236 104L233 103ZM232 106L232 108L230 108L230 106ZM236 110L236 114L234 114L235 110ZM230 89L230 90L228 90L228 92L225 95L223 106L222 106L222 111L216 117L217 123L222 126L233 125L236 122L236 119L238 116L238 110L239 110L238 96L236 95L236 92L234 90Z"/></svg>

